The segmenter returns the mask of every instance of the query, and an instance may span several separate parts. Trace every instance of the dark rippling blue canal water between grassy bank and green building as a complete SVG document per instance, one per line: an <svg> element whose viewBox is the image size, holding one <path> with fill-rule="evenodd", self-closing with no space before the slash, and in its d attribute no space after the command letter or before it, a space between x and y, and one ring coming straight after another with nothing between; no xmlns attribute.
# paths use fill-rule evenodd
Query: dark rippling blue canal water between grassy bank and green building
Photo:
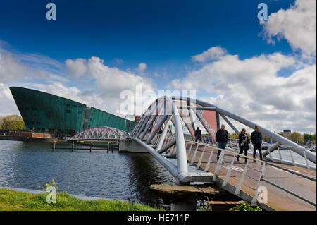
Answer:
<svg viewBox="0 0 317 225"><path fill-rule="evenodd" d="M52 152L51 147L44 142L0 140L0 186L43 190L54 179L58 191L157 206L163 202L149 186L174 183L150 154Z"/></svg>

